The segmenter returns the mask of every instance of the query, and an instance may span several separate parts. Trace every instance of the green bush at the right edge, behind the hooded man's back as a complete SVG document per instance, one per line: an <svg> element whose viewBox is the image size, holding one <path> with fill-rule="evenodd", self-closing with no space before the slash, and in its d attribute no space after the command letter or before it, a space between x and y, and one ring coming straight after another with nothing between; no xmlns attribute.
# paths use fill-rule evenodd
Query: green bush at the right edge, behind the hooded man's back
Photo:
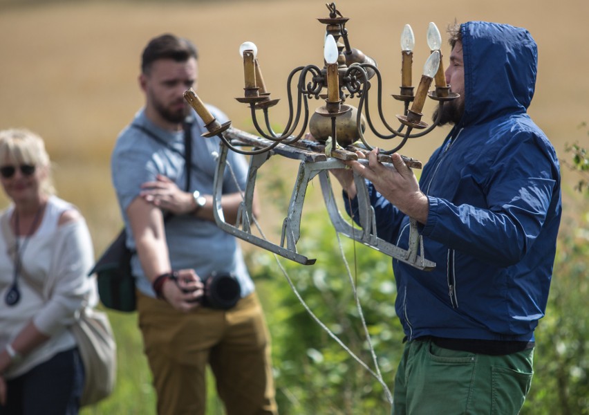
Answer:
<svg viewBox="0 0 589 415"><path fill-rule="evenodd" d="M522 414L589 414L587 219L589 214L559 239L546 316L536 329L532 390Z"/></svg>

